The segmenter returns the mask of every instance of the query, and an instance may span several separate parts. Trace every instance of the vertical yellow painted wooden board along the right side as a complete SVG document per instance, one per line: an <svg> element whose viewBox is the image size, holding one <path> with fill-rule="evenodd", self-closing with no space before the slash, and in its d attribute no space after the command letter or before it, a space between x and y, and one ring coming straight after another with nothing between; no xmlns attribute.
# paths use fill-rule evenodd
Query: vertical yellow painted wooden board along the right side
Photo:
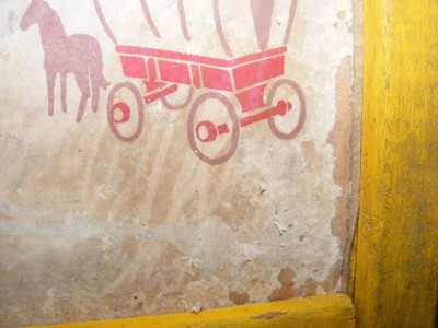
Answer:
<svg viewBox="0 0 438 328"><path fill-rule="evenodd" d="M438 1L364 0L358 327L434 327Z"/></svg>

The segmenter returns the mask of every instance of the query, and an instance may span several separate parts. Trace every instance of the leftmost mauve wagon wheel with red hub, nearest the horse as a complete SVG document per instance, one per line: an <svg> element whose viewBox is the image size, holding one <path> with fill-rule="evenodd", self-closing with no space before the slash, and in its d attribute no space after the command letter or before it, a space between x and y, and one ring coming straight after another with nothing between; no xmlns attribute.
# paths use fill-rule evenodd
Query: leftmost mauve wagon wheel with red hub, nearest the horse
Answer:
<svg viewBox="0 0 438 328"><path fill-rule="evenodd" d="M117 93L123 93L125 96L134 96L135 103L137 103L138 116L131 115L131 108L128 104L123 102L116 102ZM129 94L130 93L130 94ZM116 84L110 92L108 104L107 104L107 118L110 127L113 133L122 141L129 142L136 140L143 129L143 103L138 89L130 82L122 82ZM132 129L129 122L137 120L137 125ZM123 133L123 130L128 132ZM129 131L130 130L130 131Z"/></svg>

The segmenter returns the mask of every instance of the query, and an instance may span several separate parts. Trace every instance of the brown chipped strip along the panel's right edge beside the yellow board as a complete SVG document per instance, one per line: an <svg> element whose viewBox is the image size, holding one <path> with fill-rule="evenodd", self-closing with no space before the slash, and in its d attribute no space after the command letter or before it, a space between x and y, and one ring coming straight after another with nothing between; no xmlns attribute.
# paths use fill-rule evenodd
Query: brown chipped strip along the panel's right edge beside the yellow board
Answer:
<svg viewBox="0 0 438 328"><path fill-rule="evenodd" d="M347 255L342 263L334 267L336 272L334 276L338 276L343 271L339 290L344 292L349 277L349 249L357 222L359 198L360 142L355 136L360 131L360 108L354 105L354 94L350 87L354 83L353 65L353 58L348 56L343 59L337 69L336 124L327 138L327 142L334 148L334 156L336 157L333 176L342 188L336 200L336 214L332 220L332 232L342 241L339 250ZM356 154L356 156L351 154Z"/></svg>

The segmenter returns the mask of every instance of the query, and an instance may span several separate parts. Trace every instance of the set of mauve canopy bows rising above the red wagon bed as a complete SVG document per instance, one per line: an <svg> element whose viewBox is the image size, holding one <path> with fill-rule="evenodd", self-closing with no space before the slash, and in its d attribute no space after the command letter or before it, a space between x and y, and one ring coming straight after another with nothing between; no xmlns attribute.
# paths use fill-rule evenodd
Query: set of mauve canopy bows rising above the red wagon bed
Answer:
<svg viewBox="0 0 438 328"><path fill-rule="evenodd" d="M188 28L187 28L187 22L186 22L186 15L185 15L186 10L185 10L185 5L184 5L184 0L175 0L175 1L177 1L181 32L182 32L184 38L188 42L188 40L191 40L191 36L188 33ZM250 5L251 5L251 13L253 16L254 27L255 27L255 32L257 35L258 47L261 50L265 50L268 47L268 39L269 39L269 34L270 34L270 21L272 21L272 15L274 12L274 1L275 0L247 0L247 1L250 1ZM118 40L105 19L105 15L102 11L100 0L93 0L93 2L94 2L94 8L96 10L99 20L102 24L102 27L104 28L104 31L105 31L106 35L110 37L110 39L115 45L117 45ZM146 23L150 27L152 34L157 38L160 38L161 37L160 31L157 28L157 26L153 22L153 17L149 10L147 1L139 0L139 2L141 5L143 15L145 15ZM295 14L297 11L297 2L298 2L298 0L290 1L288 24L287 24L285 36L283 39L284 45L286 45L289 42L290 33L291 33L292 25L293 25ZM214 11L214 15L215 15L216 31L218 33L218 37L219 37L219 40L220 40L220 44L222 46L224 54L228 57L234 57L234 54L231 50L231 48L227 42L227 37L226 37L223 28L222 28L222 17L220 14L220 5L219 4L220 4L220 0L214 0L212 11Z"/></svg>

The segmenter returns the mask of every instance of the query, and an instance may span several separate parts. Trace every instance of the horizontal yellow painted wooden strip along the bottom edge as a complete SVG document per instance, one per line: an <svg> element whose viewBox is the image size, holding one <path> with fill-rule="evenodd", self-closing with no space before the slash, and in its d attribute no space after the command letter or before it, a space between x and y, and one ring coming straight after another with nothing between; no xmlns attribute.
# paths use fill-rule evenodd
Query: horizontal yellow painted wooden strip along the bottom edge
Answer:
<svg viewBox="0 0 438 328"><path fill-rule="evenodd" d="M107 321L34 328L341 328L355 327L351 301L343 294Z"/></svg>

